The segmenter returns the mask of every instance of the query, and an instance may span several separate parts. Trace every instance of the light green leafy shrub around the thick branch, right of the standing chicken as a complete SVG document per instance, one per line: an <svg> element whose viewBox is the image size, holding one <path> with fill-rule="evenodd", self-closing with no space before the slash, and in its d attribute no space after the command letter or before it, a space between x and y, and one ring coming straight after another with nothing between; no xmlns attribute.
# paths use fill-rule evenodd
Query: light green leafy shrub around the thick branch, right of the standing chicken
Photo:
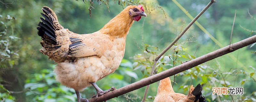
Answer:
<svg viewBox="0 0 256 102"><path fill-rule="evenodd" d="M164 55L160 57L156 64L155 73L162 72L164 70L170 69L171 67L180 65L184 62L195 59L196 57L190 55L187 51L186 47L183 47L183 43L187 43L189 40L182 42L180 45L175 45L173 48L173 53L169 53L170 55ZM134 58L134 70L141 70L143 73L143 77L148 77L151 71L151 67L153 65L153 61L155 59L156 52L154 50L158 50L157 47L145 45L145 50L142 54L135 55ZM190 85L201 84L203 86L203 95L206 97L207 101L232 101L234 98L235 101L249 101L252 102L255 100L253 91L245 91L245 95L243 96L224 96L224 95L212 95L212 87L244 87L246 89L246 85L250 83L256 84L255 79L252 77L255 72L255 68L250 66L252 72L246 72L241 69L235 70L227 70L223 71L220 66L220 62L217 62L214 65L209 65L207 63L198 65L192 69L188 69L179 74L176 74L172 80L172 86L175 92L180 92L186 94L190 88ZM211 63L211 62L210 62ZM146 72L145 72L146 71ZM251 70L250 70L251 71ZM235 78L234 77L243 77L243 78ZM240 84L237 84L240 83ZM156 87L155 85L151 87ZM253 86L255 87L255 86ZM156 95L156 88L151 88L151 91L148 92L147 101L153 101ZM178 90L179 89L179 90ZM154 93L154 94L151 94Z"/></svg>

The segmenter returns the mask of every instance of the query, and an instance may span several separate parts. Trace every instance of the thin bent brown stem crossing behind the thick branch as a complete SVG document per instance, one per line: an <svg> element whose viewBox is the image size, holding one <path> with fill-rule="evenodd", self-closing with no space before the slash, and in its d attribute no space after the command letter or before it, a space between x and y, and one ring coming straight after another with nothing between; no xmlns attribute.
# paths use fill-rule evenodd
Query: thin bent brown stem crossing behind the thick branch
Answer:
<svg viewBox="0 0 256 102"><path fill-rule="evenodd" d="M188 28L189 28L191 25L193 25L193 24L196 22L196 20L204 13L204 11L206 11L214 2L216 2L216 1L215 1L215 0L211 0L211 2L210 2L209 4L207 4L207 5L205 6L205 8L204 8L204 9L188 24L188 26L180 33L180 35L179 35L177 38L175 38L175 40L172 41L172 43L171 43L168 47L166 47L166 48L164 49L164 51L161 52L161 53L156 57L156 59L154 60L154 64L153 64L153 66L152 66L152 69L151 69L151 72L150 72L149 77L153 75L153 72L154 72L154 70L155 70L155 68L156 68L156 63L157 63L157 61L159 60L159 58L160 58L162 55L164 55L164 53L166 53L166 52L180 39L180 37L188 30ZM148 89L149 89L149 85L146 87L146 90L145 90L145 93L144 93L142 102L144 102L145 99L146 99L146 97L147 97Z"/></svg>

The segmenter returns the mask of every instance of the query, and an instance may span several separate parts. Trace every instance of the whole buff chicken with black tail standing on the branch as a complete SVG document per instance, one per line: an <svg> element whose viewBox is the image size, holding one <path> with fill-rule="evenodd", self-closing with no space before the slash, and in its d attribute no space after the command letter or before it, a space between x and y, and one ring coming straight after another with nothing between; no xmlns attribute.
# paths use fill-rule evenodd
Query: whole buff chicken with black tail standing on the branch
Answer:
<svg viewBox="0 0 256 102"><path fill-rule="evenodd" d="M44 18L40 18L42 22L37 27L43 46L40 52L57 63L56 80L73 88L78 102L88 102L79 91L91 85L97 91L95 98L115 90L111 87L102 91L95 83L120 65L130 27L134 20L147 16L142 5L127 6L99 31L90 34L76 34L65 29L49 7L44 6L42 11Z"/></svg>

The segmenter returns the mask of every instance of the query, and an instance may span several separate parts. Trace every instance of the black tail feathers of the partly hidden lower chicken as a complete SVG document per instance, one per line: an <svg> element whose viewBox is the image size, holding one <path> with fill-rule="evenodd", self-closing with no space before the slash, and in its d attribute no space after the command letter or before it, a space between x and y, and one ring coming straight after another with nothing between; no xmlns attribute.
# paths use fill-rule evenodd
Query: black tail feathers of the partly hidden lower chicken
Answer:
<svg viewBox="0 0 256 102"><path fill-rule="evenodd" d="M197 100L199 100L199 102L206 102L204 96L202 96L202 89L203 87L200 84L198 84L196 88L192 91L192 94L196 96L194 102L196 102Z"/></svg>

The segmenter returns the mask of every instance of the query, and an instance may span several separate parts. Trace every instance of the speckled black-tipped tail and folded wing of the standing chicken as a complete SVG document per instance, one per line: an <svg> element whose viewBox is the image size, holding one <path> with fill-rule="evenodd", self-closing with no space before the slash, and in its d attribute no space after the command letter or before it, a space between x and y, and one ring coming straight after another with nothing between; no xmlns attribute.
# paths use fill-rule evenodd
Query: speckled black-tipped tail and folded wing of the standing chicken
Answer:
<svg viewBox="0 0 256 102"><path fill-rule="evenodd" d="M54 11L49 7L43 7L38 24L38 35L42 37L42 52L55 62L63 62L71 57L86 57L92 55L101 56L104 49L112 46L109 43L109 35L106 34L76 34L65 29L58 22ZM108 44L108 45L106 45ZM110 45L109 45L110 44Z"/></svg>

